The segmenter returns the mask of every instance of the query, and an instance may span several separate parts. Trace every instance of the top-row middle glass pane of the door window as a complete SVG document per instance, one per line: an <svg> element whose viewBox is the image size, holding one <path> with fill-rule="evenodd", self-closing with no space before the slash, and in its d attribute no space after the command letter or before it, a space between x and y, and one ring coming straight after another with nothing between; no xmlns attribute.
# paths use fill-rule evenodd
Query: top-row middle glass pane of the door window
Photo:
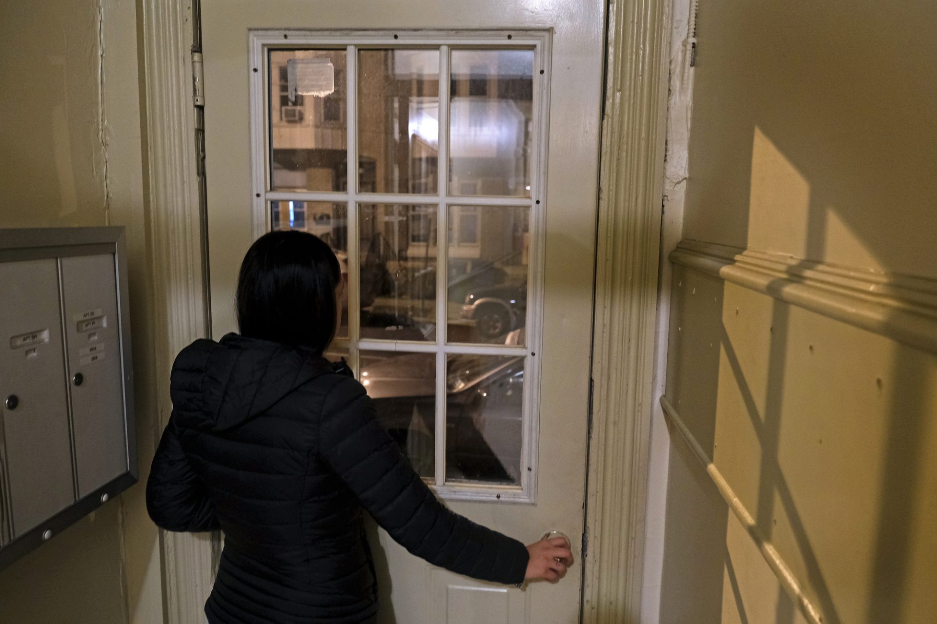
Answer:
<svg viewBox="0 0 937 624"><path fill-rule="evenodd" d="M439 51L358 54L359 189L438 193Z"/></svg>

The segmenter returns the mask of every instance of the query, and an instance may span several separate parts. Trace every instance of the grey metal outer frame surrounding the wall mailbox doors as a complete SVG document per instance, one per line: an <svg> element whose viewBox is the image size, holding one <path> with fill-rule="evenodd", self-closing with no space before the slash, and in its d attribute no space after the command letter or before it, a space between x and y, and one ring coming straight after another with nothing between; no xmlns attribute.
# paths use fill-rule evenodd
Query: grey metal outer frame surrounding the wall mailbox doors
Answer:
<svg viewBox="0 0 937 624"><path fill-rule="evenodd" d="M48 541L46 531L52 531L52 537L66 530L106 504L102 497L107 494L108 501L133 486L139 479L137 465L137 428L134 417L133 401L133 352L130 342L130 296L127 279L126 239L124 227L37 227L0 229L0 263L23 260L45 260L80 255L113 254L114 278L117 293L117 320L120 344L122 385L124 391L124 433L127 459L127 471L103 486L76 500L61 512L52 515L35 528L26 531L20 537L12 539L10 534L2 536L4 545L0 547L0 571L4 570L26 553ZM63 348L65 337L63 336ZM65 354L63 353L63 357ZM68 403L69 420L71 412ZM70 427L70 425L69 425ZM74 436L71 438L71 451L75 453ZM3 419L0 418L0 446L6 446ZM6 453L0 456L4 462ZM5 464L0 463L0 489L8 492L8 473ZM0 504L8 505L7 496L0 497ZM12 509L0 510L4 515L11 515Z"/></svg>

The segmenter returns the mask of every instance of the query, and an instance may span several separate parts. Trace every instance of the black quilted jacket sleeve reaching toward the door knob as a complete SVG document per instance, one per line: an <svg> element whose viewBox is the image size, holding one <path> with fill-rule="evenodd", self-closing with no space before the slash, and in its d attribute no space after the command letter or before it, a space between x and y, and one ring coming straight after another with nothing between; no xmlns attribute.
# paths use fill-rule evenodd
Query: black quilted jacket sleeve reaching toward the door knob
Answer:
<svg viewBox="0 0 937 624"><path fill-rule="evenodd" d="M443 506L380 426L374 403L353 379L342 379L325 399L320 455L411 554L485 581L524 581L525 545Z"/></svg>

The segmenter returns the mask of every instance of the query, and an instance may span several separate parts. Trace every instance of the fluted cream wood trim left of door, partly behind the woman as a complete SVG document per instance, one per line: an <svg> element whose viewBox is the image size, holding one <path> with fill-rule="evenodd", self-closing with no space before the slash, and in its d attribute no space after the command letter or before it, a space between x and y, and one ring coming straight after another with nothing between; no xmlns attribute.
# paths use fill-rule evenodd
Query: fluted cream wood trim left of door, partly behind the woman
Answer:
<svg viewBox="0 0 937 624"><path fill-rule="evenodd" d="M192 4L142 0L145 163L158 422L169 421L175 355L205 335L205 283L192 100ZM144 461L147 460L144 458ZM213 544L214 543L214 544ZM163 601L170 624L204 619L217 537L160 531ZM213 547L214 546L214 547Z"/></svg>

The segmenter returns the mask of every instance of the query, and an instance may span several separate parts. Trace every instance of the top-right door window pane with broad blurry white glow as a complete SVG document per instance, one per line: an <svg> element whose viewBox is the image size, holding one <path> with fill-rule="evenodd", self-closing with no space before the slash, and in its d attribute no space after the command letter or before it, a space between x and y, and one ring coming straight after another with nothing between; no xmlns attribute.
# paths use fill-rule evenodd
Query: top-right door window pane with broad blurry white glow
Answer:
<svg viewBox="0 0 937 624"><path fill-rule="evenodd" d="M532 50L452 52L449 192L530 196Z"/></svg>

